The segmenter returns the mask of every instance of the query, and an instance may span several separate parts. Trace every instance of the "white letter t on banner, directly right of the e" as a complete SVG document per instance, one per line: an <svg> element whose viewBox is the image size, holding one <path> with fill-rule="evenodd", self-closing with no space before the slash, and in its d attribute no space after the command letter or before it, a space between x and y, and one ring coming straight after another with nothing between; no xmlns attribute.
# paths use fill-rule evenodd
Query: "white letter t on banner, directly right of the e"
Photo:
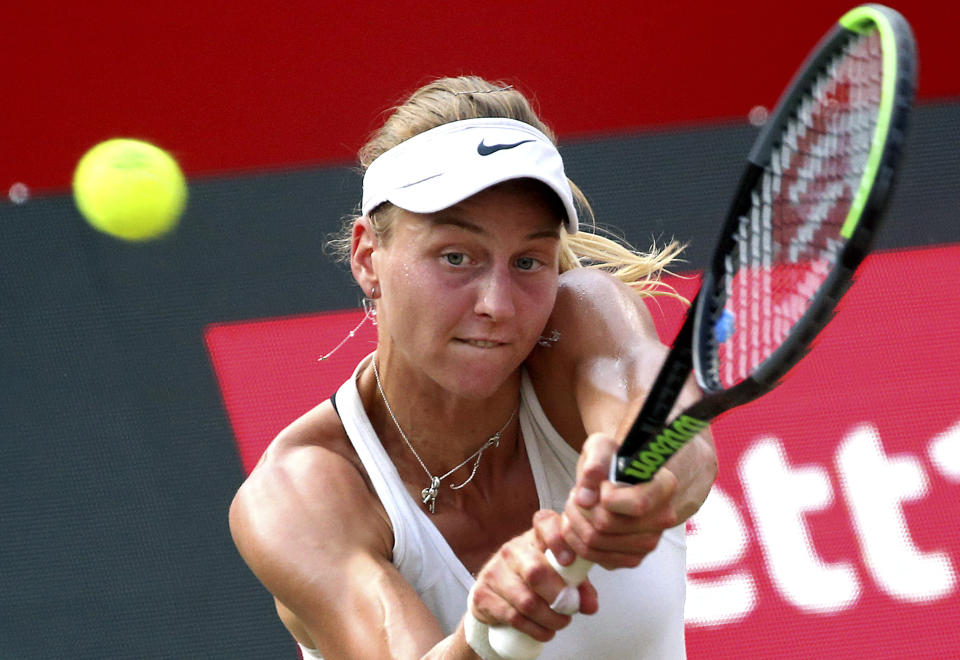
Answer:
<svg viewBox="0 0 960 660"><path fill-rule="evenodd" d="M784 599L809 612L849 607L860 595L856 568L821 560L804 521L808 512L833 504L827 471L791 467L780 443L765 439L741 458L740 480L770 577Z"/></svg>

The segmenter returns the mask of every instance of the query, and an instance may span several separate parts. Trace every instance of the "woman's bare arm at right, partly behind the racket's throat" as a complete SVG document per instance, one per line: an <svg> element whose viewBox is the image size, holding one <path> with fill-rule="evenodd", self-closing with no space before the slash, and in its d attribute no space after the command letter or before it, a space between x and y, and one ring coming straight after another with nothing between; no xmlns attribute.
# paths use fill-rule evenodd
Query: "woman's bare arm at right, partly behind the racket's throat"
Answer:
<svg viewBox="0 0 960 660"><path fill-rule="evenodd" d="M528 360L537 396L554 426L576 449L591 433L626 435L667 354L642 298L602 271L574 269L561 276L547 330L560 339ZM702 396L687 380L673 414ZM675 505L692 515L716 475L709 429L667 463L679 482Z"/></svg>

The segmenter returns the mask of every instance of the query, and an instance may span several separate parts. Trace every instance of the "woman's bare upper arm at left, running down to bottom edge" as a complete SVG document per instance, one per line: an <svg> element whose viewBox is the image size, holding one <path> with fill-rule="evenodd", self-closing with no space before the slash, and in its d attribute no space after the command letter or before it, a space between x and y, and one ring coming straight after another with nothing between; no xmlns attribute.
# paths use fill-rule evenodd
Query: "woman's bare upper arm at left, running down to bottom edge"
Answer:
<svg viewBox="0 0 960 660"><path fill-rule="evenodd" d="M350 461L317 446L264 461L230 508L240 554L324 657L419 658L443 637L392 565L378 508Z"/></svg>

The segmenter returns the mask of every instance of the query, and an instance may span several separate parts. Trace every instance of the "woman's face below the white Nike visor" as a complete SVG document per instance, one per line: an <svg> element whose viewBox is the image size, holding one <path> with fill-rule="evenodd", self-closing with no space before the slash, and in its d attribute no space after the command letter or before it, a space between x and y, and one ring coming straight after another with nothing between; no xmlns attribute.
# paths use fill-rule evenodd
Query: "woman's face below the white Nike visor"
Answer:
<svg viewBox="0 0 960 660"><path fill-rule="evenodd" d="M373 253L382 356L466 397L492 395L534 345L557 295L561 219L531 182L444 211L399 211Z"/></svg>

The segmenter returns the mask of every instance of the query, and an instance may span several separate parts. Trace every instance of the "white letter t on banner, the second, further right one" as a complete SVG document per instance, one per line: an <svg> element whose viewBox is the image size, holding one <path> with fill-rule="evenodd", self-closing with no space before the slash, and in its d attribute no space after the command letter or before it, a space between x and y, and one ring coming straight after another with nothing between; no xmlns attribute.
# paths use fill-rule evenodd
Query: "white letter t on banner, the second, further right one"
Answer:
<svg viewBox="0 0 960 660"><path fill-rule="evenodd" d="M920 461L887 456L876 429L862 426L841 443L837 468L864 563L880 588L908 602L925 602L953 591L956 575L950 557L917 549L903 516L904 502L929 492Z"/></svg>

